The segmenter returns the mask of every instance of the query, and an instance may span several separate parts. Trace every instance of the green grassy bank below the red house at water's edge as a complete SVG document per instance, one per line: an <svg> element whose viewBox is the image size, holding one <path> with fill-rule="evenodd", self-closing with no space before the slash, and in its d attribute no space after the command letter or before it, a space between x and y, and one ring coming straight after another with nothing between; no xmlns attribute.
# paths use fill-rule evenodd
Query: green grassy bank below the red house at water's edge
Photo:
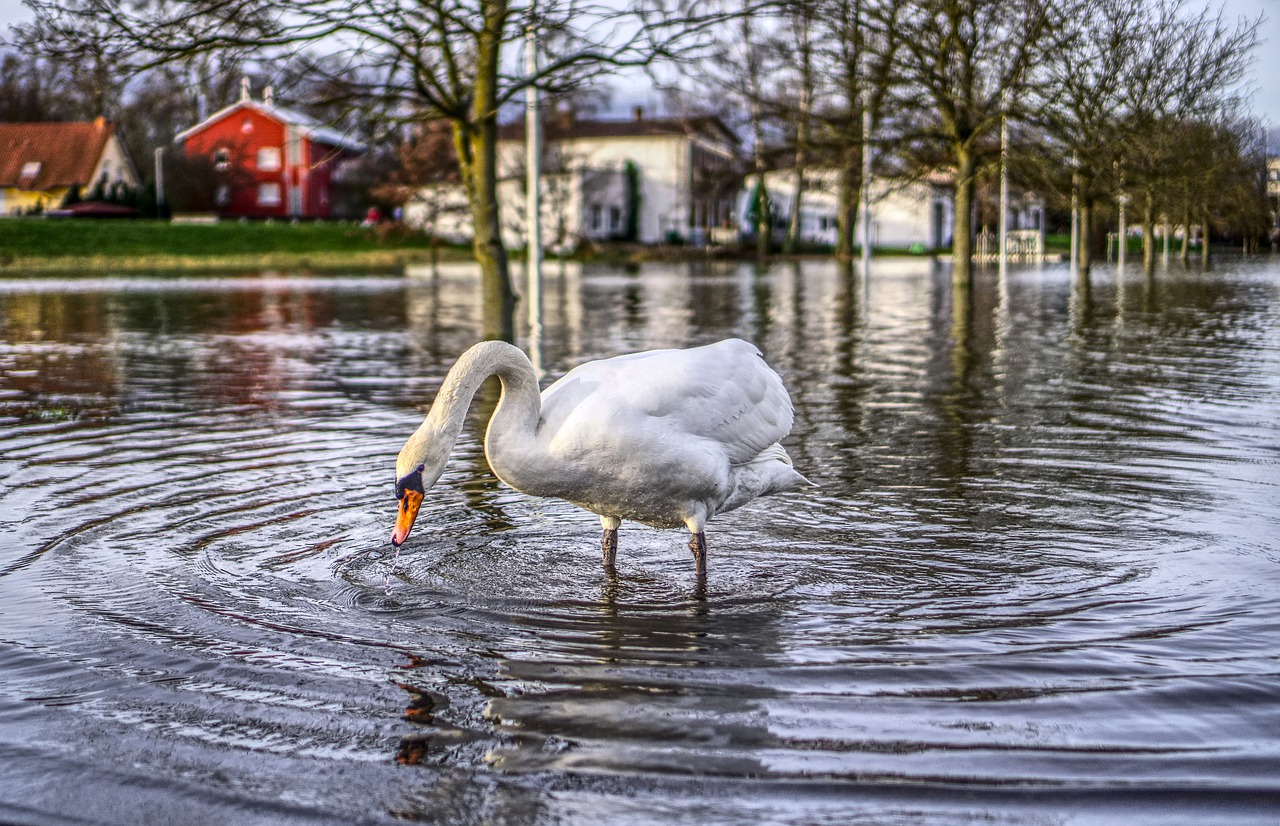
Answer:
<svg viewBox="0 0 1280 826"><path fill-rule="evenodd" d="M0 219L0 274L83 270L387 269L431 257L430 239L353 224L170 224L159 220ZM440 247L443 260L470 260Z"/></svg>

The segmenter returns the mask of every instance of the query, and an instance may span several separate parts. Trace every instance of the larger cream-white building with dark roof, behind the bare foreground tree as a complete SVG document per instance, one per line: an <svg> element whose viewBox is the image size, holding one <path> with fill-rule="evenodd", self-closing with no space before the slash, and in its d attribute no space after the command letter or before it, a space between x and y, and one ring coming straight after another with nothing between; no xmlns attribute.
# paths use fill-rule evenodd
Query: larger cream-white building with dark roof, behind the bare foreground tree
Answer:
<svg viewBox="0 0 1280 826"><path fill-rule="evenodd" d="M549 248L572 248L584 238L698 239L733 223L737 138L718 118L646 118L637 109L630 120L595 120L559 113L543 129L541 234ZM499 132L498 179L503 239L522 246L522 122ZM404 220L445 238L471 238L458 184L421 190L404 205Z"/></svg>

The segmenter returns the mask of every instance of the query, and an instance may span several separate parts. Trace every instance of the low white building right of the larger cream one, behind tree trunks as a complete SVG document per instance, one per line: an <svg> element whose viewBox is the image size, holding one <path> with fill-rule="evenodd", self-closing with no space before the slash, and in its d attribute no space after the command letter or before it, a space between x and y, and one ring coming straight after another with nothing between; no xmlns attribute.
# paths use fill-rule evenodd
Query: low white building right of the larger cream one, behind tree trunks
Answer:
<svg viewBox="0 0 1280 826"><path fill-rule="evenodd" d="M800 238L810 243L836 243L836 218L840 211L840 170L813 168L805 170L805 188L800 197ZM774 233L785 233L795 204L796 172L778 169L764 173L764 186L773 206ZM755 197L755 175L749 175L739 195L739 220L744 233L754 233L749 219ZM872 198L872 245L877 247L914 246L928 250L951 245L955 196L941 177L931 181L900 182L874 178ZM859 210L855 242L863 237L863 213Z"/></svg>

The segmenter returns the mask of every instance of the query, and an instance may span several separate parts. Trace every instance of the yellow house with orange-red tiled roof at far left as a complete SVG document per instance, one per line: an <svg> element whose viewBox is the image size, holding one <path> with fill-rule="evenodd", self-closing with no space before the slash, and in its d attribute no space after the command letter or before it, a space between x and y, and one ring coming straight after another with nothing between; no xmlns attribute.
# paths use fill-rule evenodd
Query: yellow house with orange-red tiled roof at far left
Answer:
<svg viewBox="0 0 1280 826"><path fill-rule="evenodd" d="M104 183L138 186L115 128L77 123L0 123L0 216L58 209L72 187L87 198Z"/></svg>

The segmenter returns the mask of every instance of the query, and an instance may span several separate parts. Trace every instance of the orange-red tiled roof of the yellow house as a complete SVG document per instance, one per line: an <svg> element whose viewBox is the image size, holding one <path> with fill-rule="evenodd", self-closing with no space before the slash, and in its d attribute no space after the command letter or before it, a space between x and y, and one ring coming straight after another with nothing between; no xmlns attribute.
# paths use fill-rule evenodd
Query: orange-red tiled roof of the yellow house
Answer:
<svg viewBox="0 0 1280 826"><path fill-rule="evenodd" d="M76 123L0 123L0 187L41 191L88 186L114 127Z"/></svg>

